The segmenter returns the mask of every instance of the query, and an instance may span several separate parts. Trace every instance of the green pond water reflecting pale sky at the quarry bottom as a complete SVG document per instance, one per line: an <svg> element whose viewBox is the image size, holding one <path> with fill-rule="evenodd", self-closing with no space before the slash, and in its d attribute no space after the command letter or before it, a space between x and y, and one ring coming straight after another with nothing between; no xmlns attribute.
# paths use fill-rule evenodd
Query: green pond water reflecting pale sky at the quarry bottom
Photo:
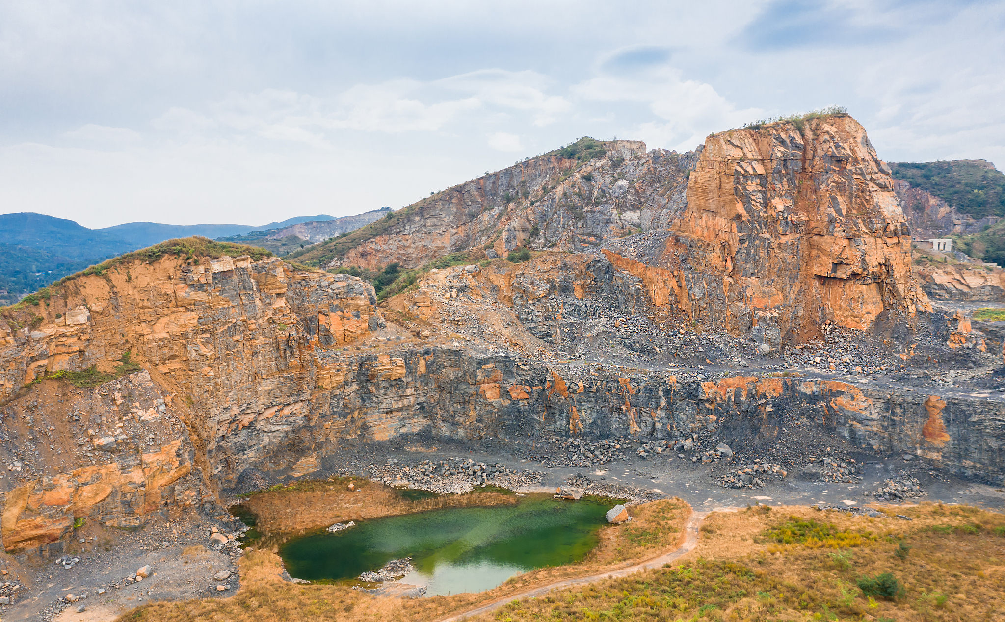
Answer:
<svg viewBox="0 0 1005 622"><path fill-rule="evenodd" d="M401 582L425 587L427 596L480 592L520 573L582 560L617 502L532 494L517 505L436 509L304 536L279 555L291 576L310 581L354 579L411 557L415 570Z"/></svg>

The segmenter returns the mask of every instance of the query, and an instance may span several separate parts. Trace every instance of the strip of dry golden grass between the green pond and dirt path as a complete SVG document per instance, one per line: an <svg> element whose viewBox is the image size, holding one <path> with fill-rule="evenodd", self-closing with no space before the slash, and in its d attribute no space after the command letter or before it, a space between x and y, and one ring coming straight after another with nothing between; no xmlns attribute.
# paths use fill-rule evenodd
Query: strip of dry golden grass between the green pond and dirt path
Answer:
<svg viewBox="0 0 1005 622"><path fill-rule="evenodd" d="M293 585L279 578L281 561L274 552L255 551L239 562L242 585L231 598L151 603L124 614L119 622L435 620L561 579L623 567L628 554L650 558L663 553L676 545L689 514L689 508L679 499L654 501L631 511L631 523L602 528L601 544L579 564L542 568L485 592L402 601L361 594L344 586ZM629 527L633 531L625 529Z"/></svg>

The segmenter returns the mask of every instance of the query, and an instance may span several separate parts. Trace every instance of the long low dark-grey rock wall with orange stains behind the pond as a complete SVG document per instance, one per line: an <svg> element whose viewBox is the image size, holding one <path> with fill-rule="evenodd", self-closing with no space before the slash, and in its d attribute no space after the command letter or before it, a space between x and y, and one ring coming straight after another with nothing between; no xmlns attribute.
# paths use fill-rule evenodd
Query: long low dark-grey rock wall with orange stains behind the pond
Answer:
<svg viewBox="0 0 1005 622"><path fill-rule="evenodd" d="M439 348L363 356L343 365L342 384L332 386L323 403L310 405L316 417L287 435L284 446L269 443L275 457L259 457L257 468L289 472L282 468L297 455L320 464L347 437L379 441L425 433L526 440L530 432L677 438L714 430L723 438L771 443L783 427L815 425L865 451L912 453L989 481L1001 482L1005 474L1005 405L986 400L798 377L701 382L602 369L563 375L512 357ZM223 432L216 446L249 447L264 433L261 427L255 422ZM220 455L214 459L227 461ZM253 462L247 457L236 461ZM219 483L226 485L228 479Z"/></svg>

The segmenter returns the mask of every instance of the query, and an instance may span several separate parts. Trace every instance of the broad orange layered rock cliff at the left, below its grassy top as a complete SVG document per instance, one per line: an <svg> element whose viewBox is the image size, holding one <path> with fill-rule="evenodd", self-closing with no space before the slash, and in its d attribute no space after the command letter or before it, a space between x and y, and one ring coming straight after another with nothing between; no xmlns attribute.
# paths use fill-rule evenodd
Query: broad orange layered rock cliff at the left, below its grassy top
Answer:
<svg viewBox="0 0 1005 622"><path fill-rule="evenodd" d="M379 328L375 304L373 287L353 276L224 255L126 261L8 310L5 546L51 542L75 519L134 525L212 500L218 480L245 467L237 457L256 459L311 419L304 405L333 373L321 358ZM138 369L129 364L146 371L92 390L67 382ZM40 399L43 389L61 399ZM264 432L220 463L218 427L225 437L231 422Z"/></svg>

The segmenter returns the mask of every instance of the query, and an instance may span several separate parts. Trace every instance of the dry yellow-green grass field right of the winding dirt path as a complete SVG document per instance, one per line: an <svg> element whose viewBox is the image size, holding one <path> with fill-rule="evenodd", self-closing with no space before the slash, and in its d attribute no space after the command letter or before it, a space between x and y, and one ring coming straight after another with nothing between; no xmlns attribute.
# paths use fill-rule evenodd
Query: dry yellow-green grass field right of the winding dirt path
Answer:
<svg viewBox="0 0 1005 622"><path fill-rule="evenodd" d="M927 503L898 508L914 519L906 522L892 513L853 519L801 506L762 507L711 514L698 548L680 566L517 601L477 619L1002 619L1001 514ZM793 542L778 542L786 540L785 528L791 533L809 521L824 529L803 529ZM840 547L849 542L856 546ZM910 547L904 559L894 555L901 542ZM869 598L856 585L882 573L903 588L895 600Z"/></svg>

